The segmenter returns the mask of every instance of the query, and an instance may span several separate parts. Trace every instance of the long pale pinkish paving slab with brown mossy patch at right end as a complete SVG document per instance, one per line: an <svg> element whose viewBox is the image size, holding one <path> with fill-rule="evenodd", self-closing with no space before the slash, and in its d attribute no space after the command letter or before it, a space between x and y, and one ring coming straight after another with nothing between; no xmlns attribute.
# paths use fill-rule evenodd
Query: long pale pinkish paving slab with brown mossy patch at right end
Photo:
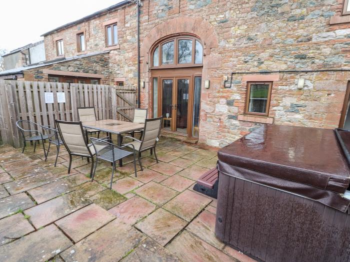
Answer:
<svg viewBox="0 0 350 262"><path fill-rule="evenodd" d="M73 213L90 203L91 200L88 199L84 192L73 191L32 207L24 211L24 213L25 215L30 216L31 223L36 229L38 229Z"/></svg>

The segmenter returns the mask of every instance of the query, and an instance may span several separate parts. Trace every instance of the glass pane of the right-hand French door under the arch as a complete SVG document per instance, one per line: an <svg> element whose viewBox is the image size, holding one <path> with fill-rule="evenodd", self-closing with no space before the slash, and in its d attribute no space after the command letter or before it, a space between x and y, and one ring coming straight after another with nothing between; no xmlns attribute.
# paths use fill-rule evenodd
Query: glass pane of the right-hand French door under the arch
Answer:
<svg viewBox="0 0 350 262"><path fill-rule="evenodd" d="M176 132L187 134L189 79L177 79Z"/></svg>

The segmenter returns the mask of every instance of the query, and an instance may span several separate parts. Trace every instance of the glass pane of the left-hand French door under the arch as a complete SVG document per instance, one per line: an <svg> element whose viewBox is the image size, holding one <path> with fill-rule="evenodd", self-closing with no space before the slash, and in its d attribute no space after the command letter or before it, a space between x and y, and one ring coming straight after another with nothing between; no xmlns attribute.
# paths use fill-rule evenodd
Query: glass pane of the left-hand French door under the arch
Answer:
<svg viewBox="0 0 350 262"><path fill-rule="evenodd" d="M163 129L171 130L172 119L172 79L162 79L161 112L163 116Z"/></svg>

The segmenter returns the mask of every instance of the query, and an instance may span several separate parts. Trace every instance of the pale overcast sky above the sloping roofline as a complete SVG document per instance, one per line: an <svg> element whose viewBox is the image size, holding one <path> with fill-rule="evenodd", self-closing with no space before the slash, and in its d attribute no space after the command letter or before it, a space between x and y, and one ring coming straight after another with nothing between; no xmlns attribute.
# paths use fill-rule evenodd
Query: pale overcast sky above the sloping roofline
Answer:
<svg viewBox="0 0 350 262"><path fill-rule="evenodd" d="M41 34L122 0L3 0L0 48L7 51L42 39Z"/></svg>

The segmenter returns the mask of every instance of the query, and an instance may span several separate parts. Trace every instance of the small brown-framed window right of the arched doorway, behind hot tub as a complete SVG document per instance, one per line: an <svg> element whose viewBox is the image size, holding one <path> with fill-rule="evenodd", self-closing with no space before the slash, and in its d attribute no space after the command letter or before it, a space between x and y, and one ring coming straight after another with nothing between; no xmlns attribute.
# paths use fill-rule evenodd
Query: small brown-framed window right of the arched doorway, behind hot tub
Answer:
<svg viewBox="0 0 350 262"><path fill-rule="evenodd" d="M245 113L267 116L271 88L271 82L248 83Z"/></svg>

